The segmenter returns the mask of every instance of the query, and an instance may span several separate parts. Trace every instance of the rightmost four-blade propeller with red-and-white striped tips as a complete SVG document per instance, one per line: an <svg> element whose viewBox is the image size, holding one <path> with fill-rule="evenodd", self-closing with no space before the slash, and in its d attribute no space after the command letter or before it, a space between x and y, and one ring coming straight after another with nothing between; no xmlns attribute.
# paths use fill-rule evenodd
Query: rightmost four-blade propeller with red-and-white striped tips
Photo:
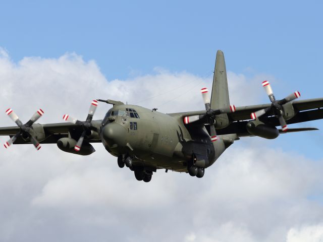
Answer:
<svg viewBox="0 0 323 242"><path fill-rule="evenodd" d="M251 118L252 119L257 119L258 117L260 117L263 114L267 113L268 111L272 110L274 115L278 117L279 123L280 123L280 125L282 127L282 131L283 132L288 131L288 126L287 126L285 118L284 118L283 105L288 103L288 102L291 102L291 101L295 100L296 98L299 98L301 96L300 92L296 91L296 92L288 95L284 99L276 100L276 98L274 96L273 89L272 89L270 83L268 81L263 81L262 86L263 86L265 92L267 93L269 99L271 100L272 105L270 107L260 109L260 110L258 110L256 112L252 112L250 114Z"/></svg>

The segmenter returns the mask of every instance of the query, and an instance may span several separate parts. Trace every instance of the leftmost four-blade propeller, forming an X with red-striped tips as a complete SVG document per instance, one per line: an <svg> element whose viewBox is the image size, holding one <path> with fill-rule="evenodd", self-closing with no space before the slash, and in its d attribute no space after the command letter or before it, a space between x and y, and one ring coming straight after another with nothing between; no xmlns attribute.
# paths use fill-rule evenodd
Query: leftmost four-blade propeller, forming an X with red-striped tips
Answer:
<svg viewBox="0 0 323 242"><path fill-rule="evenodd" d="M4 144L5 148L7 149L9 146L11 146L16 141L16 139L22 134L26 135L30 139L31 143L35 146L35 148L39 150L41 146L36 140L36 138L33 136L33 129L31 128L31 126L44 114L44 111L38 109L26 124L23 124L21 122L18 115L11 108L8 108L6 110L6 113L13 120L13 122L17 124L20 130L15 136L11 137L11 139Z"/></svg>

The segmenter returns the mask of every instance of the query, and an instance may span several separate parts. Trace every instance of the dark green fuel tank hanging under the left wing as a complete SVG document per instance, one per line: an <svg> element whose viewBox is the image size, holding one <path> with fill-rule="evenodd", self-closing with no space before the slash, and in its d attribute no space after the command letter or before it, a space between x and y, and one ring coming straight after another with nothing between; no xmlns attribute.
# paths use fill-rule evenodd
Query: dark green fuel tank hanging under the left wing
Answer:
<svg viewBox="0 0 323 242"><path fill-rule="evenodd" d="M76 145L76 143L77 141L72 138L61 138L57 141L57 146L65 152L77 155L90 155L95 152L93 146L87 142L83 142L80 151L75 151L74 146Z"/></svg>

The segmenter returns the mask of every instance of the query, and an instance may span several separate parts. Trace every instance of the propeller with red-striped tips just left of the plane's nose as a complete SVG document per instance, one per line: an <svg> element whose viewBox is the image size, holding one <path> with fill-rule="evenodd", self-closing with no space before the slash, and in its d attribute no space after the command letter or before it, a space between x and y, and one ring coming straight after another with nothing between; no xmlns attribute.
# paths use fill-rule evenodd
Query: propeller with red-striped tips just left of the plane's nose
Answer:
<svg viewBox="0 0 323 242"><path fill-rule="evenodd" d="M93 100L91 102L89 113L88 113L85 121L80 121L80 120L70 116L69 114L64 114L64 116L63 116L63 119L65 121L73 123L75 125L80 125L83 128L83 132L82 132L79 140L77 141L76 145L74 146L75 151L80 151L81 150L85 135L87 133L91 132L91 128L92 128L91 121L92 121L93 115L95 113L97 104L98 104L97 100Z"/></svg>

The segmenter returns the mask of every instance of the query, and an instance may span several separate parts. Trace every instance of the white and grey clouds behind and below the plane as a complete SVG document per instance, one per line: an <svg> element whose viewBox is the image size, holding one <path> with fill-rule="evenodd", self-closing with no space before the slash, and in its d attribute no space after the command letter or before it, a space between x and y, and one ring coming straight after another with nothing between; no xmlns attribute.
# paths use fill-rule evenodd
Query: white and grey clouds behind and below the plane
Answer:
<svg viewBox="0 0 323 242"><path fill-rule="evenodd" d="M211 88L211 76L158 68L107 81L94 61L75 53L19 63L6 53L0 56L0 110L12 107L24 121L39 107L45 111L40 123L62 122L66 112L84 119L93 98L146 99L138 105L163 112L199 110L199 89ZM255 83L266 77L229 72L232 103L256 102L263 90ZM100 103L95 118L109 108ZM0 126L12 125L3 112ZM12 146L0 152L0 240L285 241L306 234L291 228L323 222L323 206L313 199L322 192L321 164L254 140L236 142L202 179L161 170L149 184L120 169L101 144L86 157L56 145L39 152Z"/></svg>

